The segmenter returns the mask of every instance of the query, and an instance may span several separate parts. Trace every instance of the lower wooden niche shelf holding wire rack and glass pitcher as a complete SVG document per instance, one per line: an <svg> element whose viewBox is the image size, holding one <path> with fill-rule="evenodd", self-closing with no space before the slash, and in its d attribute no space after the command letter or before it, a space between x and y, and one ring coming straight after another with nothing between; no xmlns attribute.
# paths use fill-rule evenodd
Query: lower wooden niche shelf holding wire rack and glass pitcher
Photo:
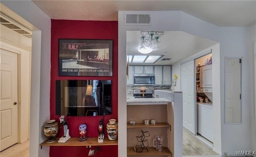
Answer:
<svg viewBox="0 0 256 157"><path fill-rule="evenodd" d="M134 147L127 147L127 155L130 155L130 156L172 155L172 152L167 147L163 147L162 151L158 151L154 147L148 147L148 152L146 149L144 149L142 153L136 153L134 151Z"/></svg>

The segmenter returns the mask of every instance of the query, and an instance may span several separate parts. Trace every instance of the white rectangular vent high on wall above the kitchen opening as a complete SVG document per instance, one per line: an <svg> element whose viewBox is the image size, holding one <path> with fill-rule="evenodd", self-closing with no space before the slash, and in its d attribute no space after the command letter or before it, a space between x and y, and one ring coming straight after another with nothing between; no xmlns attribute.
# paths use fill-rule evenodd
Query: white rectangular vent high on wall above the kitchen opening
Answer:
<svg viewBox="0 0 256 157"><path fill-rule="evenodd" d="M124 14L124 25L151 26L150 14Z"/></svg>

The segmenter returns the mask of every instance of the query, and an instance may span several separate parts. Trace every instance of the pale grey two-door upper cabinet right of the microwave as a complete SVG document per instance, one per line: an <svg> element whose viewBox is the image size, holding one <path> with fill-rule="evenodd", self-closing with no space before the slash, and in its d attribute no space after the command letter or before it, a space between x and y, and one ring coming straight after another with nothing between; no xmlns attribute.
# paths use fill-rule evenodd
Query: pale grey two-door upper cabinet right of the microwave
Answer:
<svg viewBox="0 0 256 157"><path fill-rule="evenodd" d="M171 66L155 66L155 84L171 84Z"/></svg>

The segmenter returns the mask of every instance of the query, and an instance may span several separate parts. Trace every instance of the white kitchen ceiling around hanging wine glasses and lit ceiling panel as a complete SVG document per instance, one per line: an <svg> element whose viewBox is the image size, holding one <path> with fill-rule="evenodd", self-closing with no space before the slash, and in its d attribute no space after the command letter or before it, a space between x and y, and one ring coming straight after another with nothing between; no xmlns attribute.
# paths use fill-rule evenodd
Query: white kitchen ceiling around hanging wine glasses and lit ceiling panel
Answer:
<svg viewBox="0 0 256 157"><path fill-rule="evenodd" d="M143 55L138 53L142 36L141 31L127 31L126 36L127 54ZM172 65L217 44L216 41L198 37L184 31L164 31L164 34L160 35L159 41L162 45L161 49L146 55L164 55L161 59L171 59L169 61L161 61L159 59L154 65Z"/></svg>

